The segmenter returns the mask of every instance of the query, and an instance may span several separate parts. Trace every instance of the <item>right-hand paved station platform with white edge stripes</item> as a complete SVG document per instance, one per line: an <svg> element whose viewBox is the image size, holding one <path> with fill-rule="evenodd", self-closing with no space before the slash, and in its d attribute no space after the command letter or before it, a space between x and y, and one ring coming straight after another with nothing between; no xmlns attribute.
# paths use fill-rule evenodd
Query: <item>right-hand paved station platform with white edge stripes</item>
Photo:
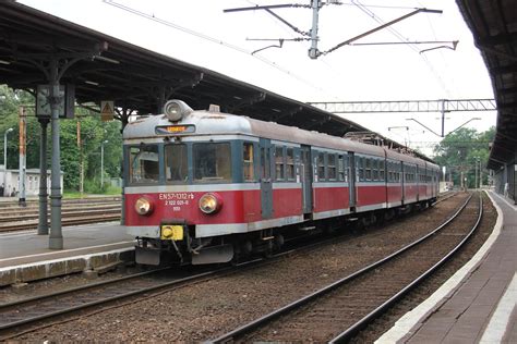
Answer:
<svg viewBox="0 0 517 344"><path fill-rule="evenodd" d="M375 343L517 343L517 206L489 196L498 217L485 244Z"/></svg>

